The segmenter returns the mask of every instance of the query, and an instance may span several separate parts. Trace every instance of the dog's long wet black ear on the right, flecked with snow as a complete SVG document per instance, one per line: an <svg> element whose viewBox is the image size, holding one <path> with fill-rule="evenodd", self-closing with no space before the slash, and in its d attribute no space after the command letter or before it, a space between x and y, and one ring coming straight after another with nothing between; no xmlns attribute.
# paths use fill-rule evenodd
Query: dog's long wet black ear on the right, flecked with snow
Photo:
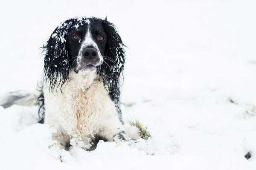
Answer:
<svg viewBox="0 0 256 170"><path fill-rule="evenodd" d="M104 84L108 86L109 95L111 99L115 102L116 108L119 108L119 77L123 71L125 64L125 50L124 43L121 40L115 26L103 20L105 26L105 31L107 33L107 48L105 51L106 61L102 64L102 75Z"/></svg>

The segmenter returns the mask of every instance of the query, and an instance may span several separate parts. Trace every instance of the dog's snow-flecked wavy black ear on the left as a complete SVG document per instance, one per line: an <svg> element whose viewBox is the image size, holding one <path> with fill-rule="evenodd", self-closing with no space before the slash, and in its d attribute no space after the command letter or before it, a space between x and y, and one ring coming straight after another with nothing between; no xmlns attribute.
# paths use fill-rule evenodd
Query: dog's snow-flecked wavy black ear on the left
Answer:
<svg viewBox="0 0 256 170"><path fill-rule="evenodd" d="M64 85L68 79L70 65L67 35L70 24L70 20L61 23L42 47L43 52L45 52L44 75L51 90L59 85Z"/></svg>

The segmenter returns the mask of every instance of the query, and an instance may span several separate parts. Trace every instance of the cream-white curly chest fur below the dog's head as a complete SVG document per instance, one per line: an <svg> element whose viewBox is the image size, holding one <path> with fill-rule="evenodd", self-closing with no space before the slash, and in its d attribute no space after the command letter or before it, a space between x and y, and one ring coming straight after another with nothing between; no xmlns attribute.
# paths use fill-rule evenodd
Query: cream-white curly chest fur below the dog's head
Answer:
<svg viewBox="0 0 256 170"><path fill-rule="evenodd" d="M69 137L90 142L104 128L102 122L116 114L115 105L93 72L71 71L63 87L62 93L59 88L57 93L45 93L45 123Z"/></svg>

